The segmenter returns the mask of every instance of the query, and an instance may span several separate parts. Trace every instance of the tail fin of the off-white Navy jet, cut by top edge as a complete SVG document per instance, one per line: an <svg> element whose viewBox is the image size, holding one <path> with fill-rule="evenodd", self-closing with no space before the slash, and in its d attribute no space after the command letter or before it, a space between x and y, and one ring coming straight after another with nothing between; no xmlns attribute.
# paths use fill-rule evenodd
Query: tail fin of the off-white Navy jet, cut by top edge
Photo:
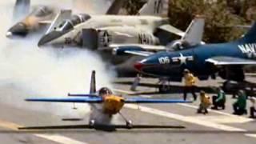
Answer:
<svg viewBox="0 0 256 144"><path fill-rule="evenodd" d="M139 10L139 15L154 15L167 17L169 10L169 0L148 0L142 9Z"/></svg>

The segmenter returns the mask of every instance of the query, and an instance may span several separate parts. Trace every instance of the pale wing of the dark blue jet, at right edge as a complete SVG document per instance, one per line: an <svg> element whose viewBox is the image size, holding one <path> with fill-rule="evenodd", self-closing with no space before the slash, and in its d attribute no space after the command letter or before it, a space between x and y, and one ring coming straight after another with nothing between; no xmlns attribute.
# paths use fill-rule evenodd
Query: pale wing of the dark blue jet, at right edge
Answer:
<svg viewBox="0 0 256 144"><path fill-rule="evenodd" d="M233 58L233 57L214 57L206 59L206 62L210 62L215 66L228 66L228 65L256 65L256 61L244 59L244 58Z"/></svg>

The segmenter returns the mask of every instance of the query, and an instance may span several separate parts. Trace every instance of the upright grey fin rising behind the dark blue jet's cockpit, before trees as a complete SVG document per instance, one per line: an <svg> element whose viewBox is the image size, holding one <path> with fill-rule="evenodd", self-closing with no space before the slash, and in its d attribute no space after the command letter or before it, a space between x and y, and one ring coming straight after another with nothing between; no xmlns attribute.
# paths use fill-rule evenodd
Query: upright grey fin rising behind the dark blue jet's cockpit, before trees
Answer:
<svg viewBox="0 0 256 144"><path fill-rule="evenodd" d="M185 34L182 37L182 41L188 42L190 46L198 45L202 42L202 36L204 32L205 19L202 17L196 17L187 27Z"/></svg>

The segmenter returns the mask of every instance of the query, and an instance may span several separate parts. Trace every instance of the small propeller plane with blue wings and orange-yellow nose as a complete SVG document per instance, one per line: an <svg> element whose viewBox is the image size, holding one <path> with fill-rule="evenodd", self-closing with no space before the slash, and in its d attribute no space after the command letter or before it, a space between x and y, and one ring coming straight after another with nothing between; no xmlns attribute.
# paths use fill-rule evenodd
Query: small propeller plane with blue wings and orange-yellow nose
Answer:
<svg viewBox="0 0 256 144"><path fill-rule="evenodd" d="M126 121L127 128L132 128L132 122L122 115L122 107L126 103L179 103L190 102L178 99L155 99L155 98L124 98L113 94L107 88L102 87L96 92L95 71L92 72L90 82L90 94L68 94L72 98L27 98L32 102L79 102L89 103L91 106L89 125L93 128L97 125L110 125L110 120L114 114L120 114Z"/></svg>

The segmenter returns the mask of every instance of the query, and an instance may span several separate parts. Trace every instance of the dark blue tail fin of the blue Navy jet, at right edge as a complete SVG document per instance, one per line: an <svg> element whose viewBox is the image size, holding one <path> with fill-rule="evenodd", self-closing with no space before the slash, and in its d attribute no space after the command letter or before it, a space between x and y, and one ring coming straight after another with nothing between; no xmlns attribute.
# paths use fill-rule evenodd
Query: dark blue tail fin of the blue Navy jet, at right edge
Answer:
<svg viewBox="0 0 256 144"><path fill-rule="evenodd" d="M256 22L254 22L250 30L238 41L242 43L256 43Z"/></svg>

